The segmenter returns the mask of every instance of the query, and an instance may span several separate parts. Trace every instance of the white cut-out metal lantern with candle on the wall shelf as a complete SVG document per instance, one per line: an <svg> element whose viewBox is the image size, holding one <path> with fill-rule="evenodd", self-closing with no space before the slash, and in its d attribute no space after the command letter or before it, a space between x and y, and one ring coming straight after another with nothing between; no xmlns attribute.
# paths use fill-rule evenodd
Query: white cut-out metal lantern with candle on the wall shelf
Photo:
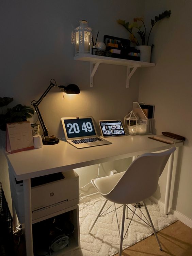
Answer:
<svg viewBox="0 0 192 256"><path fill-rule="evenodd" d="M75 55L82 53L91 54L92 28L88 27L86 20L80 20L80 25L75 29Z"/></svg>

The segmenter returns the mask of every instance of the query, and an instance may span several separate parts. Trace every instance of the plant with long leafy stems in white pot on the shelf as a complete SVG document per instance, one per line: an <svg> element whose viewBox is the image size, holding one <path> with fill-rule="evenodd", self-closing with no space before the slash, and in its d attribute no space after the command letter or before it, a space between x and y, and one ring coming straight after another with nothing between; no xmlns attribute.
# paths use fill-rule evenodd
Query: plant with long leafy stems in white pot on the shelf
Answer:
<svg viewBox="0 0 192 256"><path fill-rule="evenodd" d="M154 28L155 24L164 18L169 18L171 15L171 10L164 11L163 13L159 14L159 16L155 16L155 19L151 19L151 28L146 38L146 27L143 18L134 18L133 23L126 22L125 20L118 19L117 23L125 27L128 32L130 33L130 41L135 44L135 49L140 50L140 61L150 62L150 54L151 54L151 46L149 46L149 36L151 34L152 29ZM141 23L141 25L138 23ZM139 35L140 40L134 35ZM153 45L152 45L153 47ZM146 54L144 53L146 52ZM143 55L144 54L144 55Z"/></svg>

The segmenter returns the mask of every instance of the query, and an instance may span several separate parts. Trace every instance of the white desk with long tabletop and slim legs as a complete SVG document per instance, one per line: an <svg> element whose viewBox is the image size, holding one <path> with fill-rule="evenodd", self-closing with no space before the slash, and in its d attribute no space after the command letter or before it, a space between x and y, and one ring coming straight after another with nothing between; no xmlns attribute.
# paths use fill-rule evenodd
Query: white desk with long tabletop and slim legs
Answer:
<svg viewBox="0 0 192 256"><path fill-rule="evenodd" d="M150 134L151 136L151 134ZM107 138L113 144L77 149L60 141L57 145L44 145L42 148L7 155L9 166L15 178L23 180L25 202L25 234L27 256L33 256L31 183L30 179L51 173L89 166L93 164L135 157L147 152L155 152L172 147L170 144L148 139L149 135ZM183 142L175 143L176 147ZM168 213L171 176L174 153L169 159L164 213Z"/></svg>

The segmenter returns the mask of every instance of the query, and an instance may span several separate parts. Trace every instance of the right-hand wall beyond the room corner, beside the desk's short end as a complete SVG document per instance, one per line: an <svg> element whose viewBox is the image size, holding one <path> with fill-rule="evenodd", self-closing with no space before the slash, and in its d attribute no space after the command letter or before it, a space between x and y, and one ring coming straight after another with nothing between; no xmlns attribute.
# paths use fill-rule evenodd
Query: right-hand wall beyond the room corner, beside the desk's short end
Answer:
<svg viewBox="0 0 192 256"><path fill-rule="evenodd" d="M154 4L155 2L155 4ZM153 68L141 70L139 100L155 105L155 132L170 131L186 137L174 170L170 206L192 219L192 59L191 11L192 1L146 1L148 18L164 10L171 17L160 21L151 34L155 45ZM155 15L154 15L155 14ZM166 172L159 181L155 197L164 202Z"/></svg>

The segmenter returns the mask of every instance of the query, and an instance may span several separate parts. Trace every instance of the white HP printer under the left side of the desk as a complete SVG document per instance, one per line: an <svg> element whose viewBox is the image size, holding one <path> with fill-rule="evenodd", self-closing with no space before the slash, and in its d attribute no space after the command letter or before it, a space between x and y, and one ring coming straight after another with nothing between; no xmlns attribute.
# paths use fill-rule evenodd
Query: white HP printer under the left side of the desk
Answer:
<svg viewBox="0 0 192 256"><path fill-rule="evenodd" d="M24 223L23 181L9 172L13 205L20 223ZM31 179L32 222L47 219L79 204L79 176L74 170ZM46 217L47 216L47 217ZM43 218L44 217L44 218ZM37 220L38 221L38 220Z"/></svg>

